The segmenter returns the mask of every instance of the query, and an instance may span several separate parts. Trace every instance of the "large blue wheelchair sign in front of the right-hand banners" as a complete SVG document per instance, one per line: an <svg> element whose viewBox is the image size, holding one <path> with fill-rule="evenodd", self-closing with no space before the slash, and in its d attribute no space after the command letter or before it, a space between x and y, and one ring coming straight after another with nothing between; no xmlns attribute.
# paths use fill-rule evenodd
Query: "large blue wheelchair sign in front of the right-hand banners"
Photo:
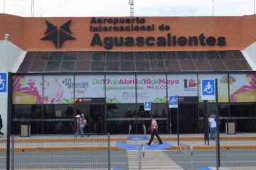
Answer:
<svg viewBox="0 0 256 170"><path fill-rule="evenodd" d="M215 100L215 79L202 79L202 100Z"/></svg>

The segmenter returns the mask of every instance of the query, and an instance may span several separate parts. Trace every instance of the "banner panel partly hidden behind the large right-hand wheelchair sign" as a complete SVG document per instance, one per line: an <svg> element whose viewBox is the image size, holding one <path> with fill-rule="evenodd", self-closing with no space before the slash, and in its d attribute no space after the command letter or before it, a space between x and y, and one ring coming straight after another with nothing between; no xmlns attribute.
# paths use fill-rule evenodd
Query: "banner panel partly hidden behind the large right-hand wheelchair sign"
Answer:
<svg viewBox="0 0 256 170"><path fill-rule="evenodd" d="M203 102L201 79L218 79L218 102L228 102L228 74L198 74L199 102ZM215 100L208 101L215 102Z"/></svg>

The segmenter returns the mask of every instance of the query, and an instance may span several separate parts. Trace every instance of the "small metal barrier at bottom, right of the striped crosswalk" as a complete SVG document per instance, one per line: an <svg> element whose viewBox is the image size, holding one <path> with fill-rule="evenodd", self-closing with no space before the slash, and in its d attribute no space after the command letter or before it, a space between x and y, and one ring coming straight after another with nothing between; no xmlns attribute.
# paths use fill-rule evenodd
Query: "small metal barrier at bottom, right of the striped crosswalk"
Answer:
<svg viewBox="0 0 256 170"><path fill-rule="evenodd" d="M180 150L184 154L185 159L185 169L188 169L188 159L187 157L191 157L191 170L193 170L193 145L187 145L185 143L180 143Z"/></svg>

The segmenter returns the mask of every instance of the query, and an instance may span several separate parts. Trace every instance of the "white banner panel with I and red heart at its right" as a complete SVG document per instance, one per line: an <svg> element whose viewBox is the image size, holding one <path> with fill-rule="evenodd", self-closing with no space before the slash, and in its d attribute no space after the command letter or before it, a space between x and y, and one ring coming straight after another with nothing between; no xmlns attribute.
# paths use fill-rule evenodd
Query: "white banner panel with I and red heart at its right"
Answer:
<svg viewBox="0 0 256 170"><path fill-rule="evenodd" d="M196 74L169 74L167 75L167 84L168 96L198 96Z"/></svg>

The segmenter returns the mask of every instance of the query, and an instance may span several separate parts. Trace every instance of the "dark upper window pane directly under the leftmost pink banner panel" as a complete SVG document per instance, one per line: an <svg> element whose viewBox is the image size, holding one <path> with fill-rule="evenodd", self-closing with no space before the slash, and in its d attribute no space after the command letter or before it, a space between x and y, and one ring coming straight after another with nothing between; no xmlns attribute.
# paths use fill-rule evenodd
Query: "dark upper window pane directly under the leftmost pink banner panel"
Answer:
<svg viewBox="0 0 256 170"><path fill-rule="evenodd" d="M42 118L41 105L14 105L14 117L23 119L36 119Z"/></svg>

